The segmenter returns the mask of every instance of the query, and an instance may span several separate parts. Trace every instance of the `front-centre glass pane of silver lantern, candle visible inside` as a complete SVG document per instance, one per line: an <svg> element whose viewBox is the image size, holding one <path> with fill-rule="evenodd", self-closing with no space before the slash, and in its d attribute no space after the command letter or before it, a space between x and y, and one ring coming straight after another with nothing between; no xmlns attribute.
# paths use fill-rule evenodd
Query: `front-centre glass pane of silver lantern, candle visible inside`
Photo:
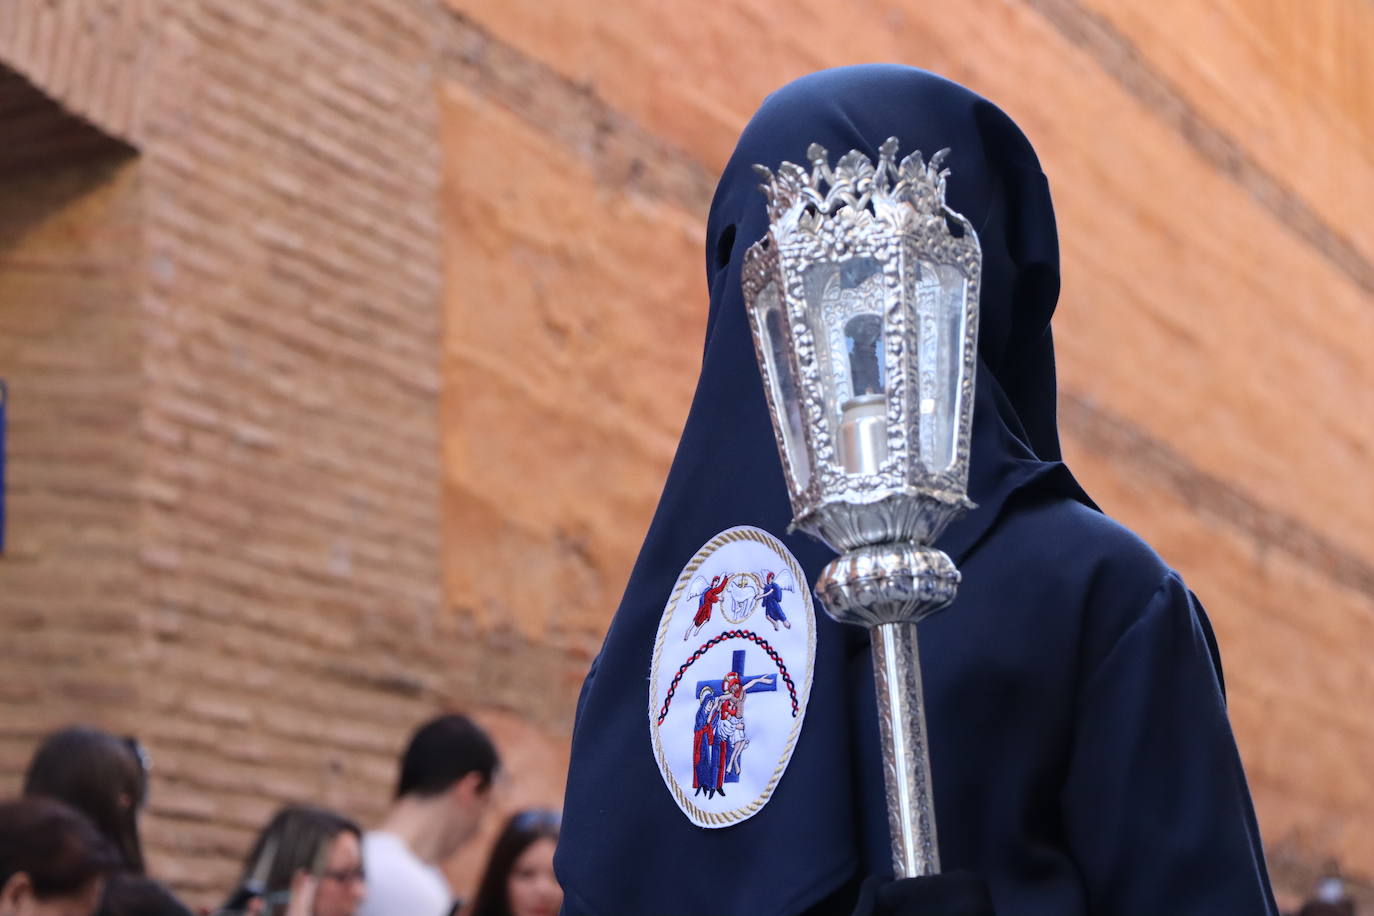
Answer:
<svg viewBox="0 0 1374 916"><path fill-rule="evenodd" d="M888 457L882 264L875 258L813 264L802 284L835 459L849 474L875 474Z"/></svg>

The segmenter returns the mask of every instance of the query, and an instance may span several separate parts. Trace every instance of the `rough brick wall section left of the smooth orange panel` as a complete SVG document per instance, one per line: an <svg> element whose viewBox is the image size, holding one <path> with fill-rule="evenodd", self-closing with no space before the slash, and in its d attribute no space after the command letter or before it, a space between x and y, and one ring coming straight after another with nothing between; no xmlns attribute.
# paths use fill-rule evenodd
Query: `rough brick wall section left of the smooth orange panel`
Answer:
<svg viewBox="0 0 1374 916"><path fill-rule="evenodd" d="M136 336L91 343L120 346L137 379L128 520L109 526L124 580L84 584L71 607L18 580L11 556L0 589L16 603L11 584L26 589L74 658L113 651L91 630L120 622L136 665L73 669L99 705L8 688L5 721L29 747L77 715L137 731L155 766L153 868L207 904L280 801L375 817L407 729L463 699L445 651L462 623L440 591L433 8L7 3L4 16L7 63L136 144L142 211L122 260ZM132 69L77 66L95 58ZM27 431L16 419L16 457L40 448ZM84 481L96 455L56 457ZM80 507L21 511L30 468L11 475L15 549L41 537L26 525L40 512L85 531ZM30 669L47 659L23 645ZM74 676L48 677L34 680L56 691ZM21 764L7 753L7 781Z"/></svg>

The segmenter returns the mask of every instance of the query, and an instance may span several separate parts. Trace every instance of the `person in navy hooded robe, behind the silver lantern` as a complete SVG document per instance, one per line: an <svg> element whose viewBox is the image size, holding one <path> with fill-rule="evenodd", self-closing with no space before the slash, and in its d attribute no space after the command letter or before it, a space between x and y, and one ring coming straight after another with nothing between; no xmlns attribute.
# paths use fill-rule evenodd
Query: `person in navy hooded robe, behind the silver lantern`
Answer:
<svg viewBox="0 0 1374 916"><path fill-rule="evenodd" d="M697 827L673 802L643 691L665 600L709 538L761 527L812 582L834 556L787 534L741 291L743 254L768 227L750 166L805 163L812 141L875 161L889 136L899 157L952 150L948 205L977 228L984 258L969 472L977 508L936 544L963 573L958 599L921 623L941 865L973 872L1002 916L1274 913L1206 617L1059 460L1058 242L1035 151L985 99L886 65L816 73L772 93L720 180L701 380L578 700L556 861L563 912L849 913L866 878L892 873L863 630L818 614L791 762L767 805L731 827ZM863 897L871 905L871 886Z"/></svg>

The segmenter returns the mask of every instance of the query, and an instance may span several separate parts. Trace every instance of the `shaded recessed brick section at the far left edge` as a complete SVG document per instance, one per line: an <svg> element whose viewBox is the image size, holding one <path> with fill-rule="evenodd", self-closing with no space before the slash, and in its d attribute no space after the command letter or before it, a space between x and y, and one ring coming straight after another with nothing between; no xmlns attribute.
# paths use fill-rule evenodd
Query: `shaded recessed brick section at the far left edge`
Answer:
<svg viewBox="0 0 1374 916"><path fill-rule="evenodd" d="M121 144L51 129L62 110L3 81L3 110L33 126L5 132L0 169L0 769L16 773L54 721L137 722L139 176ZM30 151L58 165L26 168Z"/></svg>

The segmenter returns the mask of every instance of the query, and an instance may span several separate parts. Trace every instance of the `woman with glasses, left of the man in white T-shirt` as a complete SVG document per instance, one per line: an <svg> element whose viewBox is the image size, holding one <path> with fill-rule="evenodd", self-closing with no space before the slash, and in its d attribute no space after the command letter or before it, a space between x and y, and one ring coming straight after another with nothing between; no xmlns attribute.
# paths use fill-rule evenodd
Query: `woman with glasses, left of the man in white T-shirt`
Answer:
<svg viewBox="0 0 1374 916"><path fill-rule="evenodd" d="M323 808L287 805L243 860L221 913L353 916L364 893L363 832Z"/></svg>

